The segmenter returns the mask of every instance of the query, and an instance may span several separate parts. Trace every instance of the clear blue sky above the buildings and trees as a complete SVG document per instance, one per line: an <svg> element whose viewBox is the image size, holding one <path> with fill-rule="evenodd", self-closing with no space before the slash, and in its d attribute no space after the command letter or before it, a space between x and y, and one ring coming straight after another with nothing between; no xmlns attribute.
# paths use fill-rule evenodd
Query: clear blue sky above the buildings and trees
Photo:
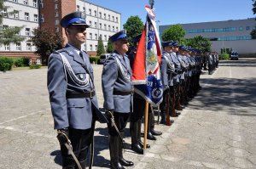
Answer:
<svg viewBox="0 0 256 169"><path fill-rule="evenodd" d="M148 0L87 0L121 13L123 25L131 15L146 18ZM252 0L154 0L159 25L255 18Z"/></svg>

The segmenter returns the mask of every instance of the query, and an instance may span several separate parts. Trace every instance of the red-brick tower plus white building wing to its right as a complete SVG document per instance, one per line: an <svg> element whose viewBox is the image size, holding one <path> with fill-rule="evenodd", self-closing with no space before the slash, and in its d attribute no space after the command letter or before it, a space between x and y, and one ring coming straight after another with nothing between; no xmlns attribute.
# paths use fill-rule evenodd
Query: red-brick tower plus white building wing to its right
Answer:
<svg viewBox="0 0 256 169"><path fill-rule="evenodd" d="M60 26L61 18L75 11L84 12L90 28L87 29L87 40L82 48L92 56L96 55L99 37L102 37L104 47L107 48L108 38L121 29L120 13L84 0L41 0L41 7L40 25L61 33L64 43L67 42L67 37L65 30Z"/></svg>

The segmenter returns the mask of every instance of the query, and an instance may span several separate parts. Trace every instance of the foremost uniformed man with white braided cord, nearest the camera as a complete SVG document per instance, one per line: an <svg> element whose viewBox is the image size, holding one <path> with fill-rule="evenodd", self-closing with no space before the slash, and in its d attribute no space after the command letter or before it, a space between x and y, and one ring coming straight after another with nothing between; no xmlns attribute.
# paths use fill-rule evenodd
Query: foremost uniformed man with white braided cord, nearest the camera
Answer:
<svg viewBox="0 0 256 169"><path fill-rule="evenodd" d="M62 18L61 26L68 42L65 48L49 56L49 101L61 144L62 168L75 169L79 165L79 168L85 168L95 121L106 122L106 119L98 110L89 56L81 50L89 27L84 13L67 14ZM67 138L75 158L67 150Z"/></svg>

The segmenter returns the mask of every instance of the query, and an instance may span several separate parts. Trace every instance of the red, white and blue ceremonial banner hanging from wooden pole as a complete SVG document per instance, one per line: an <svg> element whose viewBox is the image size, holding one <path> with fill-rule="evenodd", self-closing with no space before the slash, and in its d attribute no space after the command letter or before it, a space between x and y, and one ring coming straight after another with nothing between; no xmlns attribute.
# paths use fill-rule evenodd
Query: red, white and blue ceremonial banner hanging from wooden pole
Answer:
<svg viewBox="0 0 256 169"><path fill-rule="evenodd" d="M137 47L132 67L132 81L135 92L154 106L161 103L163 87L160 80L161 43L156 29L154 10L145 6L148 20Z"/></svg>

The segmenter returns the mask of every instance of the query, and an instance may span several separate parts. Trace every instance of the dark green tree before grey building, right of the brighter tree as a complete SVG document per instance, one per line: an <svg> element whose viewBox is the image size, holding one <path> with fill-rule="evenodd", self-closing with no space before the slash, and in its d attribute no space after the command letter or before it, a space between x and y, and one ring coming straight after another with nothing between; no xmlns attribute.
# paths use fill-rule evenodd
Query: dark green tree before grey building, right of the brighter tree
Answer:
<svg viewBox="0 0 256 169"><path fill-rule="evenodd" d="M200 49L203 52L211 51L211 42L206 37L201 37L201 36L193 37L187 41L186 45L192 48Z"/></svg>

